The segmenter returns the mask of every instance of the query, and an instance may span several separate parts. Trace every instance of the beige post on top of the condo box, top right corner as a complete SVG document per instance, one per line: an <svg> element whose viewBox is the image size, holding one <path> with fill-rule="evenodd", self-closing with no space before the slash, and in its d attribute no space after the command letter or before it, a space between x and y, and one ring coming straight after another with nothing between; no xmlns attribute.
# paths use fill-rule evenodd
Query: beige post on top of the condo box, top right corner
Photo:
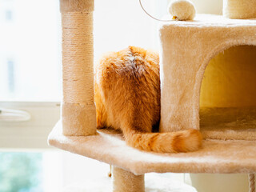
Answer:
<svg viewBox="0 0 256 192"><path fill-rule="evenodd" d="M224 0L226 18L256 18L256 0Z"/></svg>

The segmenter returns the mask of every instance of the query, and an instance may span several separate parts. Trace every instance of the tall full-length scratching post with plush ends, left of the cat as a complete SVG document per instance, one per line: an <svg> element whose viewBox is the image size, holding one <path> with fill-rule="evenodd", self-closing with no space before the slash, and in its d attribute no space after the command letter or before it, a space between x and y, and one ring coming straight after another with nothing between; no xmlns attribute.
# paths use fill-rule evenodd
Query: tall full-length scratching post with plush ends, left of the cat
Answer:
<svg viewBox="0 0 256 192"><path fill-rule="evenodd" d="M63 134L96 133L94 0L60 0L62 13Z"/></svg>

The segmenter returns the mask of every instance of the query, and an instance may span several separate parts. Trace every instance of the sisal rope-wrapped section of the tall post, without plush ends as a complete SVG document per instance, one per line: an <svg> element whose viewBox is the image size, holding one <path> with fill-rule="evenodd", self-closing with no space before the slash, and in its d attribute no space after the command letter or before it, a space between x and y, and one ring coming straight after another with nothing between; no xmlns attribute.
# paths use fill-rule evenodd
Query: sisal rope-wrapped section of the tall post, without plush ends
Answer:
<svg viewBox="0 0 256 192"><path fill-rule="evenodd" d="M94 105L93 12L62 13L63 102Z"/></svg>

